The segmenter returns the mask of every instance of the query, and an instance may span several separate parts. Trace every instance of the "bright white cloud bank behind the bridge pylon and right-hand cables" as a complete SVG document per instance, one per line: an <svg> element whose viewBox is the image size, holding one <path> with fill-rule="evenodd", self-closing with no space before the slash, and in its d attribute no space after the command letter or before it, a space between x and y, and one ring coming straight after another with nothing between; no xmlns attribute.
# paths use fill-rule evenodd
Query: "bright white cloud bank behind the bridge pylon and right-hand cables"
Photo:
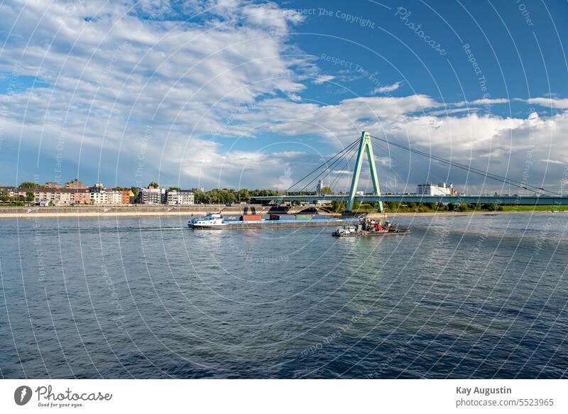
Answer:
<svg viewBox="0 0 568 414"><path fill-rule="evenodd" d="M379 138L431 151L515 180L548 185L550 189L559 186L561 165L533 160L550 160L550 153L556 158L568 159L568 143L561 138L568 133L568 113L548 118L532 113L526 118L513 118L466 111L462 116L440 117L427 111L440 107L443 107L441 103L425 95L360 97L344 99L334 105L266 100L261 102L261 110L246 114L242 119L247 124L278 119L269 126L275 134L317 134L331 143L339 143L340 148L356 138L359 131L371 131ZM438 112L452 111L454 109ZM400 183L467 182L469 191L484 189L482 177L467 175L462 170L405 153L385 143L376 142L375 146L378 167L384 177L395 174ZM394 158L381 158L391 152ZM486 185L498 188L500 183L489 180Z"/></svg>

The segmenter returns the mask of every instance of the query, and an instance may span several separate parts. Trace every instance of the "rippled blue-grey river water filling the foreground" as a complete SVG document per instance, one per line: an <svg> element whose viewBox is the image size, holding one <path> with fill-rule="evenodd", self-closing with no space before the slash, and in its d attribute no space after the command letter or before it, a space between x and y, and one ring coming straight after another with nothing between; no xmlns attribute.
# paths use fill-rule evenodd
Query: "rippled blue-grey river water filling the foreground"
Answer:
<svg viewBox="0 0 568 414"><path fill-rule="evenodd" d="M2 219L4 378L565 378L568 213L413 234Z"/></svg>

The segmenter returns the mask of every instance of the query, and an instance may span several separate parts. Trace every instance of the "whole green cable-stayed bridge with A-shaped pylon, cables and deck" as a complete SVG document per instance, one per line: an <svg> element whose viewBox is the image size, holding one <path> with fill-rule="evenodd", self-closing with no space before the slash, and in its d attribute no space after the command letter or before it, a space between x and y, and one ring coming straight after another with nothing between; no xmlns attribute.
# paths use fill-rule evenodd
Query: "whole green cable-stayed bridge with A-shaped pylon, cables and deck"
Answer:
<svg viewBox="0 0 568 414"><path fill-rule="evenodd" d="M402 148L411 153L416 153L421 156L430 158L431 160L445 163L454 168L459 168L461 170L466 170L468 173L482 175L484 178L497 180L503 183L503 185L508 185L509 187L517 187L521 190L527 190L533 192L533 195L419 195L419 194L381 194L381 186L378 181L378 171L375 165L375 158L373 154L373 142L383 142L390 146L395 146L397 148ZM351 154L349 156L349 154ZM349 194L339 194L339 195L326 195L326 194L306 194L302 195L302 192L310 185L320 180L320 178L333 168L341 167L342 163L349 165L351 159L357 156L353 176L351 178L351 189ZM391 154L392 155L392 154ZM364 158L368 159L369 172L371 175L371 182L373 183L373 194L372 195L358 195L357 185L359 184L359 176L361 175L361 166L363 164ZM337 177L338 178L338 177ZM337 180L336 178L336 180ZM330 185L333 185L332 182ZM302 186L303 185L303 186ZM300 187L302 186L302 187ZM465 165L457 163L456 161L448 160L439 156L435 156L431 153L425 153L424 151L417 150L415 148L410 148L407 146L400 145L398 143L393 143L384 138L377 138L371 136L368 132L363 131L361 138L357 138L355 141L346 146L342 151L339 151L334 156L326 160L322 165L319 165L315 170L310 171L307 175L302 177L300 180L295 182L293 185L288 187L285 192L291 192L294 187L300 188L300 190L295 190L295 193L300 193L299 195L278 195L270 197L255 197L258 201L274 201L274 202L285 202L285 201L305 201L305 202L317 202L321 200L325 201L346 201L346 211L351 212L355 201L358 202L376 202L378 203L378 211L383 212L383 202L443 202L443 203L471 203L471 204L497 204L497 205L568 205L568 196L560 195L557 192L545 190L542 187L537 187L535 185L530 185L528 183L523 183L518 180L513 180L511 178L506 178L501 175L490 173L488 171L480 170L479 168L474 168L471 165Z"/></svg>

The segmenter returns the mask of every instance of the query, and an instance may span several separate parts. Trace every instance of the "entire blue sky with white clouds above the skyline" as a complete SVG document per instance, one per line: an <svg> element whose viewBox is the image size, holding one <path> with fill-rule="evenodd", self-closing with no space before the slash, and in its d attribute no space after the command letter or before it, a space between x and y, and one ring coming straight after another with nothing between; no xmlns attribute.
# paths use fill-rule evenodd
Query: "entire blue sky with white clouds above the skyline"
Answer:
<svg viewBox="0 0 568 414"><path fill-rule="evenodd" d="M369 131L566 192L564 0L6 0L0 16L1 185L285 190ZM374 152L383 192L525 193ZM353 160L324 184L346 190Z"/></svg>

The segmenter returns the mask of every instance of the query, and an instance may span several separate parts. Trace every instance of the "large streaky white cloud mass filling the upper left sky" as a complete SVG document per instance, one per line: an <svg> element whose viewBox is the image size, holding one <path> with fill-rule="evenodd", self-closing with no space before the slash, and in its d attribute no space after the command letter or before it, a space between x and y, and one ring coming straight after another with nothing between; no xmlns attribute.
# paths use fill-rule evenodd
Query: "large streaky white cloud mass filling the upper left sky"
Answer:
<svg viewBox="0 0 568 414"><path fill-rule="evenodd" d="M61 153L68 164L96 167L99 152L136 160L144 151L148 170L160 165L191 178L218 175L222 155L205 136L246 135L248 126L234 124L234 114L253 110L248 106L264 96L299 100L305 85L297 75L314 68L289 53L286 35L302 20L297 13L251 1L183 6L202 13L197 21L203 23L175 20L168 3L148 1L1 4L0 30L10 35L0 70L16 66L18 76L50 85L7 99L7 139L22 136L28 148L42 156ZM143 148L148 126L151 140ZM186 147L180 158L177 151ZM200 148L199 162L192 148ZM241 155L223 162L238 168Z"/></svg>

